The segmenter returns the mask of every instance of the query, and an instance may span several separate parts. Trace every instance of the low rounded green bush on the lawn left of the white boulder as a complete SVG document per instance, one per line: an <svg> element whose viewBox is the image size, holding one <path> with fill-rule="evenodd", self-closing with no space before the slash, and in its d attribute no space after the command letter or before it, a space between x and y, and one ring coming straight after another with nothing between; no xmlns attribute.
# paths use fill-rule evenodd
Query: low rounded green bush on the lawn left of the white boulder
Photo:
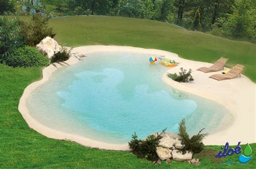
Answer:
<svg viewBox="0 0 256 169"><path fill-rule="evenodd" d="M12 67L48 66L50 59L38 52L35 47L22 46L6 55L3 62Z"/></svg>

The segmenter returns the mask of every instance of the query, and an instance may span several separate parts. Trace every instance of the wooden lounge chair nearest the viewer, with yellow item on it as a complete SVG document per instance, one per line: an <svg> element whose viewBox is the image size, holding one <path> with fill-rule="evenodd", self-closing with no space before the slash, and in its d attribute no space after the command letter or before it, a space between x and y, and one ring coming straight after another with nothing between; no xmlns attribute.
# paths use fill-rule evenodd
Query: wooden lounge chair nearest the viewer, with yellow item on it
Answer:
<svg viewBox="0 0 256 169"><path fill-rule="evenodd" d="M211 75L209 78L216 79L216 80L224 80L224 79L233 79L237 77L237 75L240 75L244 66L242 65L235 65L230 71L228 71L226 74L214 74Z"/></svg>

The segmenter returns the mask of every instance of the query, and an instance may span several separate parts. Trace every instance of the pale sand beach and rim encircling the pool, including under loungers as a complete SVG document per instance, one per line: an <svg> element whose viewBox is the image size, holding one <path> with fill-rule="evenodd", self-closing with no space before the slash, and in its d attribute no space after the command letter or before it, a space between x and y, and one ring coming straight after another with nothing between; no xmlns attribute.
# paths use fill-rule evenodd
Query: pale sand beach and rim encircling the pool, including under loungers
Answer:
<svg viewBox="0 0 256 169"><path fill-rule="evenodd" d="M231 126L221 130L219 132L213 133L204 139L204 144L206 145L224 145L226 142L231 145L237 145L238 142L241 144L255 143L256 142L256 116L255 116L255 95L256 86L249 78L241 75L232 80L217 81L208 78L212 74L220 74L219 72L203 73L196 71L199 67L211 66L212 64L206 62L191 61L179 58L177 54L154 50L154 49L144 49L137 47L127 47L127 46L82 46L73 48L73 52L78 52L81 54L89 54L93 52L104 52L104 51L130 51L130 52L142 52L142 53L152 53L158 55L164 55L167 59L174 59L180 64L177 67L170 68L163 75L163 81L174 88L186 91L191 94L199 95L201 97L208 98L215 102L223 105L234 117L234 121ZM81 58L82 59L82 58ZM65 61L69 65L76 64L78 58L71 57L68 61ZM239 64L239 63L237 63ZM64 64L65 65L65 64ZM63 66L56 64L57 67ZM180 67L185 69L192 69L192 76L195 79L193 82L189 83L178 83L167 77L167 73L179 72ZM228 68L225 68L228 70ZM26 101L28 100L30 94L38 86L42 85L49 80L51 74L55 72L57 68L50 65L43 69L43 79L37 82L31 83L25 88L24 93L20 99L18 110L21 112L26 123L30 128L36 130L42 135L62 140L71 140L77 142L84 146L95 147L105 150L129 150L129 146L126 145L116 145L98 142L97 140L92 140L89 138L72 135L70 133L64 133L57 130L48 128L47 126L39 123L35 118L30 115L29 109L26 106Z"/></svg>

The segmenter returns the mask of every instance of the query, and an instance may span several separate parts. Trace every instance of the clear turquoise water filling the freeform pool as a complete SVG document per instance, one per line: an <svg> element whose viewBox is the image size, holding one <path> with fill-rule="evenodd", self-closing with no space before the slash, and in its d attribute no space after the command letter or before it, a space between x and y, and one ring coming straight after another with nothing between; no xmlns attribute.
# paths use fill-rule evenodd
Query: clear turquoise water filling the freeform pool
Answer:
<svg viewBox="0 0 256 169"><path fill-rule="evenodd" d="M167 67L150 65L149 53L97 52L65 66L33 91L28 108L50 128L124 144L167 128L177 132L186 119L190 134L215 132L231 124L220 104L166 85ZM197 79L195 79L197 80Z"/></svg>

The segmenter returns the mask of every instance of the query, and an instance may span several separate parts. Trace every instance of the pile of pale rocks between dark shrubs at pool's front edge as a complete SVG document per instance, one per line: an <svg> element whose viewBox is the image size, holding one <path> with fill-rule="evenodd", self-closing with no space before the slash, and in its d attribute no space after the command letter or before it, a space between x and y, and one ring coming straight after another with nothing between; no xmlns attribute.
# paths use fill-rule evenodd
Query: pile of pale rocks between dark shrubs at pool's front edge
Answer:
<svg viewBox="0 0 256 169"><path fill-rule="evenodd" d="M157 135L154 133L153 135ZM192 159L193 154L191 152L186 151L183 154L178 149L183 148L184 145L181 144L181 138L176 133L164 132L161 133L163 138L160 139L159 146L156 149L159 160L166 160L167 164L171 163L171 159L176 161L188 161L190 164L199 165L199 159ZM160 164L161 162L155 161L156 164Z"/></svg>

